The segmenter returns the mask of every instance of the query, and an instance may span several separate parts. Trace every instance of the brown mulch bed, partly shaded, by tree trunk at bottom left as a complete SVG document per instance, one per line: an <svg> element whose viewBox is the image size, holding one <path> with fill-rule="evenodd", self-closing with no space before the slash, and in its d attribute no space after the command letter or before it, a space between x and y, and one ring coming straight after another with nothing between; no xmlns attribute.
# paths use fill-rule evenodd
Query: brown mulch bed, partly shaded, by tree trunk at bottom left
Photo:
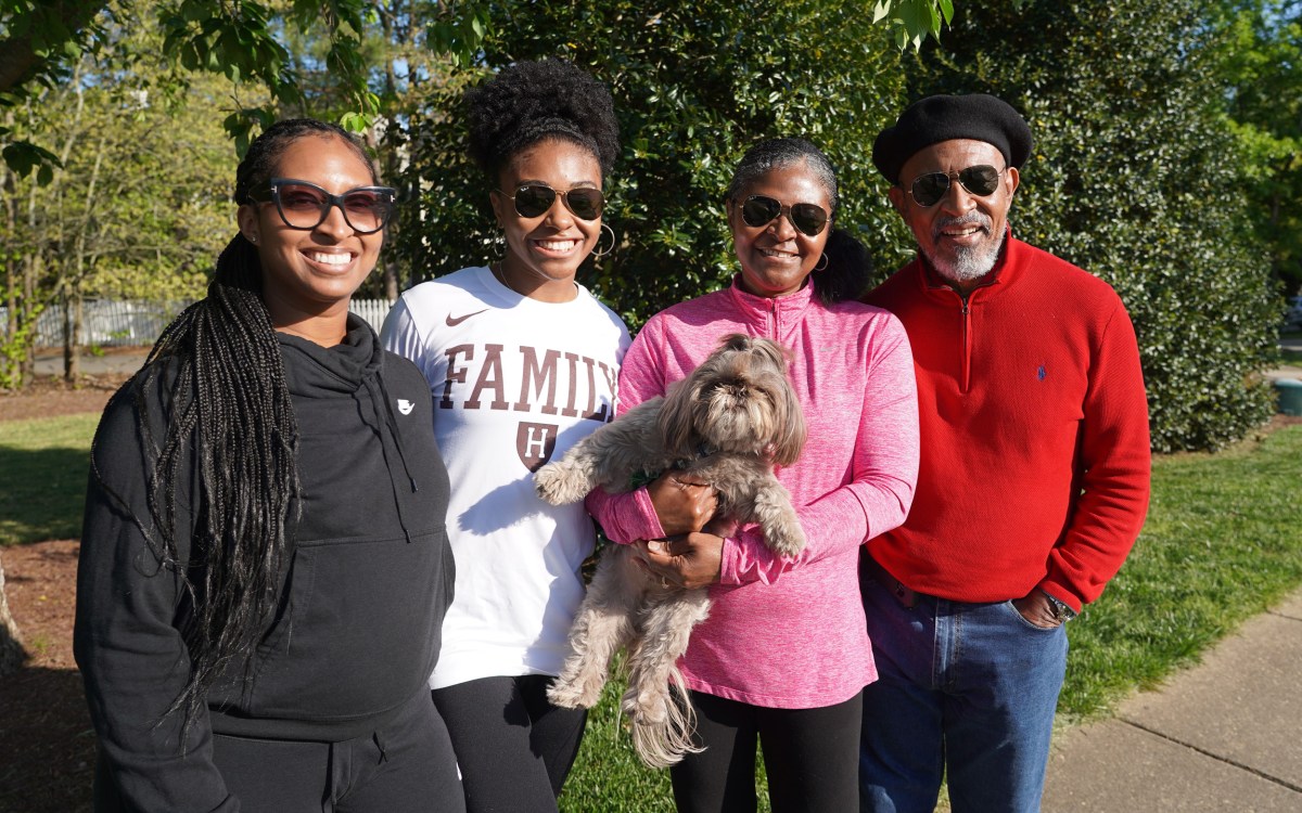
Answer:
<svg viewBox="0 0 1302 813"><path fill-rule="evenodd" d="M0 679L0 812L89 810L95 735L73 661L76 540L0 550L27 661Z"/></svg>

